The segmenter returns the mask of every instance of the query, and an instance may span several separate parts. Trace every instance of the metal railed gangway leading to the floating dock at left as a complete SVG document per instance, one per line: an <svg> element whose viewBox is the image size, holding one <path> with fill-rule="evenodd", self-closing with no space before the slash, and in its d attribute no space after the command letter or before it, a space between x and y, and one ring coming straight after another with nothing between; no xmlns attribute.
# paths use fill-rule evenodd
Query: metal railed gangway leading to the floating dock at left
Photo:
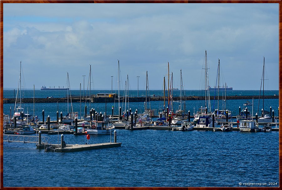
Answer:
<svg viewBox="0 0 282 190"><path fill-rule="evenodd" d="M48 144L49 137L41 136L41 142ZM3 134L3 141L6 142L22 142L22 143L38 143L39 136L31 135L5 135Z"/></svg>

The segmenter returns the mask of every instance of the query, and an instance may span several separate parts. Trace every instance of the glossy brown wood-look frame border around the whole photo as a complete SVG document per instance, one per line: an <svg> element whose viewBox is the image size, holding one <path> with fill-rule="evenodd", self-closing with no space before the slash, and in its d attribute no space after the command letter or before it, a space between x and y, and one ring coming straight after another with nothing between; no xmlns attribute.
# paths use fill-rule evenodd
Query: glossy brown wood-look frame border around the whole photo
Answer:
<svg viewBox="0 0 282 190"><path fill-rule="evenodd" d="M3 113L3 3L279 3L279 91L282 89L282 84L280 79L282 77L282 0L2 0L0 7L0 116ZM282 98L282 94L279 93L279 100ZM282 103L279 101L279 107ZM282 113L279 114L279 125L282 122ZM3 124L3 117L0 117L0 124ZM281 126L281 125L280 125ZM211 189L230 189L230 190L242 190L242 189L252 189L252 190L264 190L264 189L274 189L278 190L281 184L281 148L282 148L282 134L279 130L279 187L3 187L3 125L0 126L0 189L5 190L51 190L51 189L62 189L62 190L86 190L86 189L106 189L106 190L131 190L131 189L150 189L150 190L211 190Z"/></svg>

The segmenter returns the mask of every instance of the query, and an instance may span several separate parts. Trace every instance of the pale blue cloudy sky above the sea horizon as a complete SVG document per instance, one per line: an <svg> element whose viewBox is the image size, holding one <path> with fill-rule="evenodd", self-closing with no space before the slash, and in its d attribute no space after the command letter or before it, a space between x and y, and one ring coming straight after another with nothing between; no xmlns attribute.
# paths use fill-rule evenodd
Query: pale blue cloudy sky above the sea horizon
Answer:
<svg viewBox="0 0 282 190"><path fill-rule="evenodd" d="M4 3L3 88L162 89L168 62L173 85L205 89L279 89L278 3ZM85 77L83 77L85 75ZM113 76L113 77L111 77ZM139 77L137 77L139 76ZM112 82L113 81L113 82Z"/></svg>

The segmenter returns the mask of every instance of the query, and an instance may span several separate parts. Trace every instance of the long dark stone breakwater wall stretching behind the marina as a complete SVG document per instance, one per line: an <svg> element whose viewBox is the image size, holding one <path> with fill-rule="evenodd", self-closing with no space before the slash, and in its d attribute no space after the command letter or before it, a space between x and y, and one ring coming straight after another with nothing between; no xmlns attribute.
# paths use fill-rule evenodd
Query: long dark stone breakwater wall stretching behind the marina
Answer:
<svg viewBox="0 0 282 190"><path fill-rule="evenodd" d="M223 97L224 98L224 97ZM226 96L227 100L236 100L236 99L259 99L259 96ZM264 99L278 99L279 96L264 96ZM125 98L121 97L120 101L125 100ZM167 100L167 98L165 98ZM184 100L204 100L204 96L186 96L182 97L182 101ZM210 97L211 100L216 99L217 97ZM262 96L260 97L262 99ZM180 101L180 97L173 97L174 101ZM219 100L222 100L222 96L219 97ZM22 98L21 102L22 103L62 103L62 102L67 102L67 97L66 98ZM72 97L71 98L72 102L80 102L80 97ZM81 98L81 102L89 102L89 98ZM115 102L115 98L105 98L105 97L92 97L91 102L92 103L113 103ZM116 102L117 102L116 98ZM129 97L129 102L145 102L146 98L145 97ZM147 101L164 101L164 97L147 97ZM70 102L70 99L69 99ZM14 98L3 98L3 103L15 103Z"/></svg>

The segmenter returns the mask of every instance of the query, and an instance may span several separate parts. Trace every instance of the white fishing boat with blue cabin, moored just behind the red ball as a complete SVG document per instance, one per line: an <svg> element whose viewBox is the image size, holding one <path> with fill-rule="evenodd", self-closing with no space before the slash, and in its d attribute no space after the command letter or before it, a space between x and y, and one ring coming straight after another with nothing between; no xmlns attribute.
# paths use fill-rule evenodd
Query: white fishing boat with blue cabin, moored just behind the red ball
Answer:
<svg viewBox="0 0 282 190"><path fill-rule="evenodd" d="M94 124L93 124L94 123ZM115 130L114 125L107 126L104 121L92 121L91 128L86 129L88 135L110 135Z"/></svg>

